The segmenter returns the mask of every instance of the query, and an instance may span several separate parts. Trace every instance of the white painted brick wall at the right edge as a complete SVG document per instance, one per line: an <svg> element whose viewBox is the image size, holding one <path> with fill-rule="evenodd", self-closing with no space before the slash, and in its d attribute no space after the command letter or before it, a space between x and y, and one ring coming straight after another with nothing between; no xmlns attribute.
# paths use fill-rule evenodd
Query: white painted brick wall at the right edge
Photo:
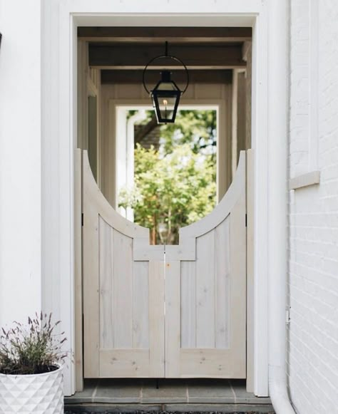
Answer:
<svg viewBox="0 0 338 414"><path fill-rule="evenodd" d="M321 182L290 194L287 359L297 412L333 414L338 413L338 2L334 0L290 2L290 177L309 172L311 165L310 1L319 5Z"/></svg>

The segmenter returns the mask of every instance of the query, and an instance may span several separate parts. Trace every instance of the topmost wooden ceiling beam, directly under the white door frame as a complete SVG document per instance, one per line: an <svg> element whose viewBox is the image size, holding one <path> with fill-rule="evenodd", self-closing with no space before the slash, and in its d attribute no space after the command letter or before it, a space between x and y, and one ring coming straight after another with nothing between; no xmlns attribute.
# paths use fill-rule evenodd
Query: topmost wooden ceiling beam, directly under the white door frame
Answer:
<svg viewBox="0 0 338 414"><path fill-rule="evenodd" d="M250 41L251 27L78 27L85 41L133 43L213 43Z"/></svg>

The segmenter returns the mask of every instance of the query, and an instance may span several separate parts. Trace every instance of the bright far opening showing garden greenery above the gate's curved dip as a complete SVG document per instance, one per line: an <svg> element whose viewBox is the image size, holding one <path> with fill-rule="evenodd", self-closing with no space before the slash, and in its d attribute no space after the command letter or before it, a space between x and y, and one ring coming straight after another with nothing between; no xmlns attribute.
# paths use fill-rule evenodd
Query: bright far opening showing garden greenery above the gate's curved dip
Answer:
<svg viewBox="0 0 338 414"><path fill-rule="evenodd" d="M152 108L117 108L116 206L151 244L178 244L180 227L215 207L218 113L181 105L174 124L158 125Z"/></svg>

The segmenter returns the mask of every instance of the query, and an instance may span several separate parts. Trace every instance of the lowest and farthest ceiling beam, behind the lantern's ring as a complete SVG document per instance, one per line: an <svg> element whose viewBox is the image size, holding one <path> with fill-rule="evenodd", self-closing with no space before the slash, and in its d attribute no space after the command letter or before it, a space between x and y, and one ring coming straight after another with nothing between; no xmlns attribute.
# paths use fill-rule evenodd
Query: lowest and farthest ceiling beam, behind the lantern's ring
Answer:
<svg viewBox="0 0 338 414"><path fill-rule="evenodd" d="M101 71L102 84L117 83L142 83L143 71ZM158 72L149 71L146 74L145 81L147 86L154 86L158 83ZM186 75L184 71L175 71L173 80L180 86L185 83ZM190 83L231 83L231 70L215 70L215 71L189 71Z"/></svg>

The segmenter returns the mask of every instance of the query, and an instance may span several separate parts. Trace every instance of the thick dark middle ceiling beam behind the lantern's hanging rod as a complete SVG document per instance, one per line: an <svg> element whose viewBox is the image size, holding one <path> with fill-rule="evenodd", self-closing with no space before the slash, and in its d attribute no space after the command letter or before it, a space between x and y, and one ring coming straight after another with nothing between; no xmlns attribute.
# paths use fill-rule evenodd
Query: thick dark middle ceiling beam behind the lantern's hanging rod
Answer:
<svg viewBox="0 0 338 414"><path fill-rule="evenodd" d="M169 55L180 58L190 69L229 69L243 68L242 44L218 45L180 45L169 46ZM92 68L143 69L155 56L163 55L163 46L116 44L114 46L89 45L89 66ZM163 66L180 69L182 65L173 59L161 59L151 68ZM149 68L150 69L150 68Z"/></svg>

